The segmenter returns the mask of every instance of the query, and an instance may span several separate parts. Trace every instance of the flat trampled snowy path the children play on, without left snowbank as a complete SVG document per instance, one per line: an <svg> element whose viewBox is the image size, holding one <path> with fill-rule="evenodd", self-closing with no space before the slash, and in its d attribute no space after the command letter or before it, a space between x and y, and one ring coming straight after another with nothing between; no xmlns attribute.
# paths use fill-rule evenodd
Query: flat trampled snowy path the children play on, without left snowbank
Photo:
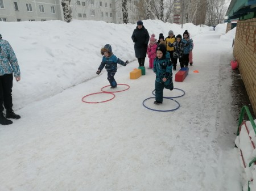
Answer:
<svg viewBox="0 0 256 191"><path fill-rule="evenodd" d="M175 99L180 103L175 112L142 106L152 96L155 77L147 69L145 76L130 80L137 62L118 69L117 82L130 89L112 101L81 101L108 85L103 72L17 111L20 120L0 127L0 190L241 190L233 151L236 122L229 111L232 51L214 32L193 40L195 64L183 83L174 82L186 93ZM199 46L204 52L197 52ZM179 92L164 91L174 94ZM159 106L153 101L147 104L172 106L168 100Z"/></svg>

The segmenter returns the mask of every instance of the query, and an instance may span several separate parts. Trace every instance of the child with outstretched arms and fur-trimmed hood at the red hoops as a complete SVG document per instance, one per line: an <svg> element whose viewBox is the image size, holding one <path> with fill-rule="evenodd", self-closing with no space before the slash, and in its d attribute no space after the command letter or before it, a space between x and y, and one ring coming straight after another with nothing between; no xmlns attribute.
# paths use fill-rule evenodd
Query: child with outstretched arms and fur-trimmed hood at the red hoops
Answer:
<svg viewBox="0 0 256 191"><path fill-rule="evenodd" d="M117 64L119 63L120 65L126 66L129 61L123 62L121 59L114 56L110 44L106 44L104 48L101 49L101 55L103 55L101 65L98 67L96 74L100 74L102 69L105 67L108 71L107 79L109 80L111 88L117 88L117 82L115 82L114 79L114 75L117 72Z"/></svg>

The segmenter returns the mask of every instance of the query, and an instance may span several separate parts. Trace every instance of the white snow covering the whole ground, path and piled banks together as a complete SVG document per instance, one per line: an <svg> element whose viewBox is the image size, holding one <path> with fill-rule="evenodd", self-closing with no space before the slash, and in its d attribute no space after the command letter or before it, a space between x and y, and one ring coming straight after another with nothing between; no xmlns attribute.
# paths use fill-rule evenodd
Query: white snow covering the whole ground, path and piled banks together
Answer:
<svg viewBox="0 0 256 191"><path fill-rule="evenodd" d="M146 75L129 78L138 67L135 24L0 22L21 71L13 86L13 109L21 118L0 126L1 191L242 189L246 175L234 148L238 116L232 116L230 92L236 28L225 34L226 24L213 31L191 23L143 23L157 39L188 29L195 45L188 76L175 82L178 63L177 89L164 90L176 98L162 105L153 104L155 74L148 58ZM105 44L130 61L118 66L116 90L109 88L105 69L96 74ZM102 87L120 92L102 94ZM185 95L177 97L181 90ZM100 103L85 103L84 96ZM177 103L175 111L159 111Z"/></svg>

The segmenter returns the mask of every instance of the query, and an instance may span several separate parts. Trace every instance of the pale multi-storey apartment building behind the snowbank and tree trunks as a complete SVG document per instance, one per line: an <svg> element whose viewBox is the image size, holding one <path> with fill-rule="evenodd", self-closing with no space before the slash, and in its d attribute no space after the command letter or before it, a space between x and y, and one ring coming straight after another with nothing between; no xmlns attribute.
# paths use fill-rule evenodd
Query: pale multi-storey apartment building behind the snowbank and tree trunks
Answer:
<svg viewBox="0 0 256 191"><path fill-rule="evenodd" d="M129 23L137 22L137 1L127 1ZM72 18L123 23L122 1L71 0ZM61 0L0 0L0 21L64 20Z"/></svg>

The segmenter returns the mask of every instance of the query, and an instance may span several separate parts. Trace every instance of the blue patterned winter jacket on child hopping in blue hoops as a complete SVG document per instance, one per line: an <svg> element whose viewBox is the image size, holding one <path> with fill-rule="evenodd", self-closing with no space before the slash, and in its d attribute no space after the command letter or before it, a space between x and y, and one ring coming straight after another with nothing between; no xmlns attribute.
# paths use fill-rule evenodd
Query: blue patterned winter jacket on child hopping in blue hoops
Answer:
<svg viewBox="0 0 256 191"><path fill-rule="evenodd" d="M164 58L158 57L154 60L154 73L156 74L156 81L164 84L170 84L172 82L172 63L170 61L170 53L166 52ZM163 78L167 81L163 82Z"/></svg>

